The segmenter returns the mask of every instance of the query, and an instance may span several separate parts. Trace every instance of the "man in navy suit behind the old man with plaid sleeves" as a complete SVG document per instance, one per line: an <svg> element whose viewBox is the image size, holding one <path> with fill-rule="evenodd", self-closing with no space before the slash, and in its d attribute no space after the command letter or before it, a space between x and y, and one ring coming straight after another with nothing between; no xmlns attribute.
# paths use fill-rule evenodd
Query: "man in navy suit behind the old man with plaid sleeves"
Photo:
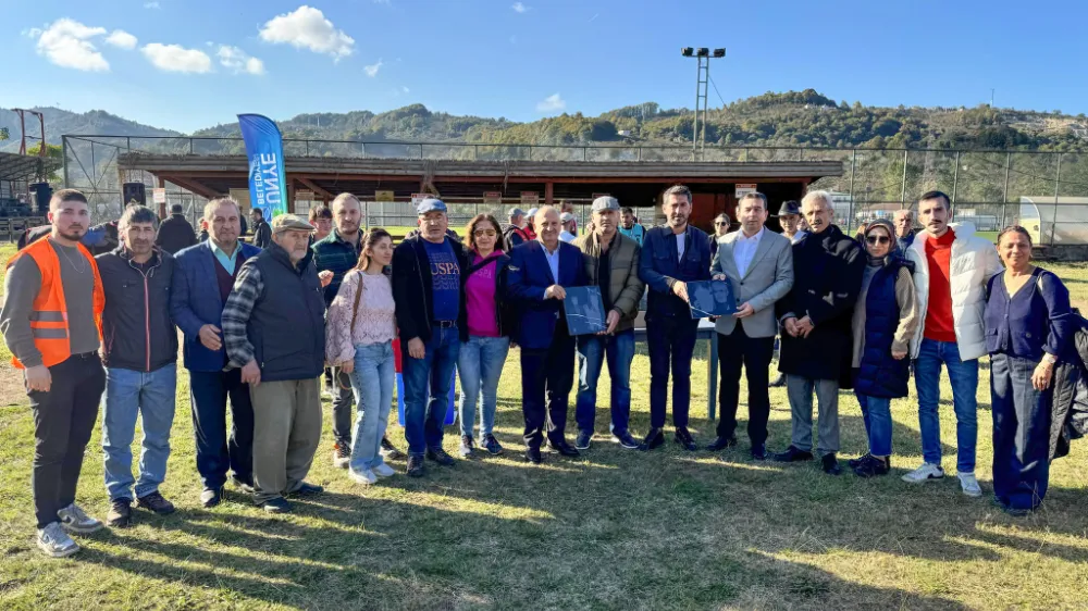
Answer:
<svg viewBox="0 0 1088 611"><path fill-rule="evenodd" d="M193 429L197 437L197 471L203 482L200 502L211 508L223 498L226 472L251 494L254 485L254 406L242 370L224 372L223 306L234 288L242 264L260 253L238 241L242 212L230 198L205 205L200 224L208 240L174 255L170 315L185 335L185 369L189 370ZM226 436L226 399L234 425Z"/></svg>

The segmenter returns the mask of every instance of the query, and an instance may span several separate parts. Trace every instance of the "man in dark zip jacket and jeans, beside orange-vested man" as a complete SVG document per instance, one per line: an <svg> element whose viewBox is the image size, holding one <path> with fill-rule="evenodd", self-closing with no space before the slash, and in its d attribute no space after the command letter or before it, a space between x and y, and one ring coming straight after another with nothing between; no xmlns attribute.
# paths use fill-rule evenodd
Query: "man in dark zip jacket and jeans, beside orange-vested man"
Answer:
<svg viewBox="0 0 1088 611"><path fill-rule="evenodd" d="M125 237L113 252L95 260L102 277L102 449L109 524L132 522L133 485L137 507L173 513L159 486L166 475L170 428L177 385L177 331L170 319L174 258L154 248L157 217L139 205L125 210L118 228ZM144 420L139 478L132 474L136 417Z"/></svg>

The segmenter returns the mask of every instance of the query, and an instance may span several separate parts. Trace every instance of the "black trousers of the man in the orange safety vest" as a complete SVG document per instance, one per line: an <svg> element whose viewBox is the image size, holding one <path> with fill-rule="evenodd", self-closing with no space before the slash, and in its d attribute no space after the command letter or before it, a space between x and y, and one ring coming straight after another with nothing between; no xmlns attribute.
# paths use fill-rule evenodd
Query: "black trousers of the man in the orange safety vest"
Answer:
<svg viewBox="0 0 1088 611"><path fill-rule="evenodd" d="M27 392L34 410L34 512L38 528L75 502L83 456L98 422L106 370L95 352L73 354L49 367L48 392Z"/></svg>

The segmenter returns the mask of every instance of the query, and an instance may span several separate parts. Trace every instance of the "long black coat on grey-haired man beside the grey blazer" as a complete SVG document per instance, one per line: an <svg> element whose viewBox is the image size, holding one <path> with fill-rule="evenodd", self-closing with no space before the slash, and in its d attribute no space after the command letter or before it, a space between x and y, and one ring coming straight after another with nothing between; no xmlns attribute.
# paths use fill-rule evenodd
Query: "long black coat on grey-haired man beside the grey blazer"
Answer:
<svg viewBox="0 0 1088 611"><path fill-rule="evenodd" d="M814 328L805 338L782 334L779 371L853 387L851 322L864 272L865 251L834 225L793 245L793 287L775 311L807 315Z"/></svg>

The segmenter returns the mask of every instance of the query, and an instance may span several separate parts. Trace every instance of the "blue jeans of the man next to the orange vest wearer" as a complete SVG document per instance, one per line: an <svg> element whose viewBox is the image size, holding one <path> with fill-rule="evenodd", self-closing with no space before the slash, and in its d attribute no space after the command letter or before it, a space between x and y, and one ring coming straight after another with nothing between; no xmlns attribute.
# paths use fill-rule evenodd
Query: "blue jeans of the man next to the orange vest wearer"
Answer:
<svg viewBox="0 0 1088 611"><path fill-rule="evenodd" d="M159 489L166 477L170 427L174 424L177 365L138 372L109 367L102 394L102 450L106 453L106 490L110 500L143 498ZM133 478L133 437L136 416L144 416L139 481Z"/></svg>

